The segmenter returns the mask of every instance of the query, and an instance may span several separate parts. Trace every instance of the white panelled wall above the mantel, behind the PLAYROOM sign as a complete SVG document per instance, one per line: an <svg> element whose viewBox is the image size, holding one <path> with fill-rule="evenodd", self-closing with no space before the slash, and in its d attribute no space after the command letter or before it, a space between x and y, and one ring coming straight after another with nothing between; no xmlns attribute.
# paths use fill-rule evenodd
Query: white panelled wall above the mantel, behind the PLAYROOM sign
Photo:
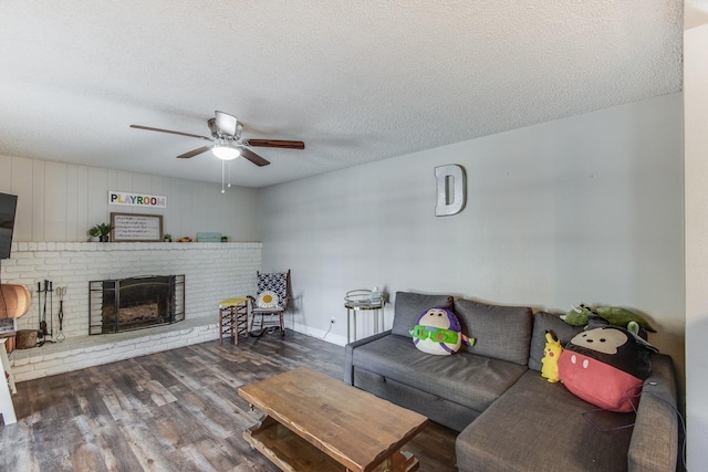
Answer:
<svg viewBox="0 0 708 472"><path fill-rule="evenodd" d="M108 190L167 196L166 209L110 206ZM86 241L86 231L111 212L163 214L173 238L220 232L229 241L257 241L258 191L144 174L0 156L0 192L14 193L13 241Z"/></svg>

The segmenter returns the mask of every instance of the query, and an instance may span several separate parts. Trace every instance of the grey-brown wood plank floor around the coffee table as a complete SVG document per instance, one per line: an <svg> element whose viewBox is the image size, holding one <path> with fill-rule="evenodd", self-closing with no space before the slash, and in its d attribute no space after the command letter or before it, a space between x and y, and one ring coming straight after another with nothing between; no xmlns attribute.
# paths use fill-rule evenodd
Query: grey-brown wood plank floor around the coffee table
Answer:
<svg viewBox="0 0 708 472"><path fill-rule="evenodd" d="M260 413L237 390L300 366L341 379L344 348L266 334L20 382L0 471L275 471L241 437ZM405 450L421 471L455 471L455 437L430 423Z"/></svg>

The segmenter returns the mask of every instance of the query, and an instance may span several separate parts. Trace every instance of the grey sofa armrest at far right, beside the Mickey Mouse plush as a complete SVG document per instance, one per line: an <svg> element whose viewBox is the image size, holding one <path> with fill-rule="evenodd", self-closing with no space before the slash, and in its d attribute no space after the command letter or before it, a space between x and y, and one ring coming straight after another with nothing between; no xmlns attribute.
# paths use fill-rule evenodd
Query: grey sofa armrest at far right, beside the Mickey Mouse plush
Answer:
<svg viewBox="0 0 708 472"><path fill-rule="evenodd" d="M644 381L627 455L629 471L673 471L678 455L676 377L671 358L655 354Z"/></svg>

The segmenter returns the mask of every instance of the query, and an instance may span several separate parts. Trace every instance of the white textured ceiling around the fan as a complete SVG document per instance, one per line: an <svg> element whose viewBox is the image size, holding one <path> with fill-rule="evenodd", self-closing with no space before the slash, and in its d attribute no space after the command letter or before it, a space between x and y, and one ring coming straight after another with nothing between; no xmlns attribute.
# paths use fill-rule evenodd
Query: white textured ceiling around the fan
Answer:
<svg viewBox="0 0 708 472"><path fill-rule="evenodd" d="M0 13L0 155L220 181L215 109L262 187L681 88L671 0L13 1Z"/></svg>

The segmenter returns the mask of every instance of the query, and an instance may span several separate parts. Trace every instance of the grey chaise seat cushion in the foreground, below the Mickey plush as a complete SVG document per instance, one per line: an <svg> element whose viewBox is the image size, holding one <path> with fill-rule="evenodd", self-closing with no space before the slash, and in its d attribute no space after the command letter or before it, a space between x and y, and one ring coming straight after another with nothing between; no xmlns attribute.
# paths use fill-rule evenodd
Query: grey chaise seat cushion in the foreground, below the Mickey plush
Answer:
<svg viewBox="0 0 708 472"><path fill-rule="evenodd" d="M595 407L528 370L456 440L460 471L626 471L633 413ZM614 430L617 429L617 430Z"/></svg>

